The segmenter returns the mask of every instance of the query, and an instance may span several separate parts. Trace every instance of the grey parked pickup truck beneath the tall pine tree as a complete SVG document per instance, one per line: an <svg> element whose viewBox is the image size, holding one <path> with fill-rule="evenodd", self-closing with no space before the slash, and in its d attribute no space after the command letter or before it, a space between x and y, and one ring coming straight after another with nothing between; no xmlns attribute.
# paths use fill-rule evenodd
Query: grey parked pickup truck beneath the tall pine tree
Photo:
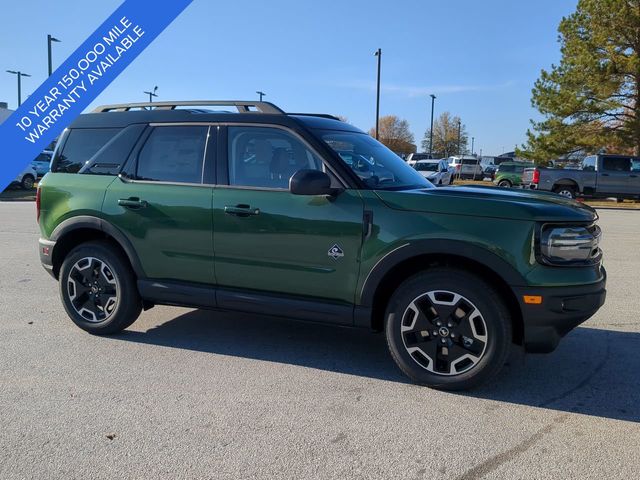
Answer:
<svg viewBox="0 0 640 480"><path fill-rule="evenodd" d="M640 198L640 157L593 155L578 170L527 168L523 185L564 197Z"/></svg>

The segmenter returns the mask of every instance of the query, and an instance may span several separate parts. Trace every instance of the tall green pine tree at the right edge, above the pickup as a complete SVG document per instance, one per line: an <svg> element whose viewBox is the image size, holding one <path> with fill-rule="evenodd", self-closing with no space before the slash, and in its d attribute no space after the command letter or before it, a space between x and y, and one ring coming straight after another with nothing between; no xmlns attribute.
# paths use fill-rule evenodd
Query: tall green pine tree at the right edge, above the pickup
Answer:
<svg viewBox="0 0 640 480"><path fill-rule="evenodd" d="M579 0L558 31L560 63L532 91L544 119L532 120L519 153L640 154L640 0Z"/></svg>

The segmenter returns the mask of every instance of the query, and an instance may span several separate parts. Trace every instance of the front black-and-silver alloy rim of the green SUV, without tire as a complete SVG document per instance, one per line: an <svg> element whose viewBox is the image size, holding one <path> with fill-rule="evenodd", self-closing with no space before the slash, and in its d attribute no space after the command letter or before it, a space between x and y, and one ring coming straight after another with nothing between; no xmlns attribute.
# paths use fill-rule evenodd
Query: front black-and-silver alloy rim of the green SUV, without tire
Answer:
<svg viewBox="0 0 640 480"><path fill-rule="evenodd" d="M401 323L404 347L425 370L437 375L459 375L472 369L487 349L487 325L467 298L433 290L415 298Z"/></svg>

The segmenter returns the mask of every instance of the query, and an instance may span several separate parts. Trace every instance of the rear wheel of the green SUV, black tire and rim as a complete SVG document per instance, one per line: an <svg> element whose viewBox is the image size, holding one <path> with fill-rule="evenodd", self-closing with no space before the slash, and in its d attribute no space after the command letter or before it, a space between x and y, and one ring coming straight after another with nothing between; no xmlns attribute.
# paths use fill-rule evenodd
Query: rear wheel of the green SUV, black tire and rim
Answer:
<svg viewBox="0 0 640 480"><path fill-rule="evenodd" d="M142 311L129 261L108 242L92 241L74 248L62 263L59 288L71 320L94 335L120 332Z"/></svg>

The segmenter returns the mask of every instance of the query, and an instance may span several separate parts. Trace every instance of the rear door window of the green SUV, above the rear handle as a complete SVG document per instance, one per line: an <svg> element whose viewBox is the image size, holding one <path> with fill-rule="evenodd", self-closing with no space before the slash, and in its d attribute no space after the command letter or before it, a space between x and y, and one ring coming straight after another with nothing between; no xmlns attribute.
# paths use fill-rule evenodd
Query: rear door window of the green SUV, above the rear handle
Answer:
<svg viewBox="0 0 640 480"><path fill-rule="evenodd" d="M136 178L202 183L207 126L155 127L138 155Z"/></svg>

